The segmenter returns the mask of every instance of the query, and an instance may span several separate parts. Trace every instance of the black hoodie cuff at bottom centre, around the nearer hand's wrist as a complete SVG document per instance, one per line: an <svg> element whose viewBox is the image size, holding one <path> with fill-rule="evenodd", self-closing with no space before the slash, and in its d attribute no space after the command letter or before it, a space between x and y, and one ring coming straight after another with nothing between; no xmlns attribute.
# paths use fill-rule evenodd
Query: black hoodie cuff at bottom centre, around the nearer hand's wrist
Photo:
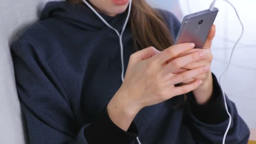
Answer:
<svg viewBox="0 0 256 144"><path fill-rule="evenodd" d="M128 131L123 131L110 119L107 106L88 128L85 128L85 139L89 144L130 144L137 136L135 123L131 123Z"/></svg>

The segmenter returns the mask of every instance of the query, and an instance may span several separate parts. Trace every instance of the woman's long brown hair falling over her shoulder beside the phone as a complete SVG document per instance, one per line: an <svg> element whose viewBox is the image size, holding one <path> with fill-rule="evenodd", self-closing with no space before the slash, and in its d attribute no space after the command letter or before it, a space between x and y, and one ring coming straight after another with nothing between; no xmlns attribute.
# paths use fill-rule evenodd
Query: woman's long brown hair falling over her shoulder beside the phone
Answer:
<svg viewBox="0 0 256 144"><path fill-rule="evenodd" d="M82 0L66 0L74 4L84 5ZM173 45L173 36L166 21L146 0L133 0L130 16L131 34L136 51L153 46L159 51ZM177 84L179 86L181 84ZM184 101L187 96L184 94ZM183 104L175 106L182 107Z"/></svg>

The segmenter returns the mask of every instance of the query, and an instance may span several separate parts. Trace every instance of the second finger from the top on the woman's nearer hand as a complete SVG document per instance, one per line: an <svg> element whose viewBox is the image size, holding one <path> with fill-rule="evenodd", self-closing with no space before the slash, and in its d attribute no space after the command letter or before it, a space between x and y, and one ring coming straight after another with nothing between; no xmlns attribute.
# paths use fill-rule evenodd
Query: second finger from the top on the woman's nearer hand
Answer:
<svg viewBox="0 0 256 144"><path fill-rule="evenodd" d="M190 64L195 61L199 61L200 59L202 59L204 54L205 54L204 51L200 51L199 53L195 52L195 53L191 53L187 56L182 56L182 57L176 58L163 68L162 73L163 73L163 75L168 75L168 73L173 72L176 69L179 69L181 67L183 68L187 64Z"/></svg>

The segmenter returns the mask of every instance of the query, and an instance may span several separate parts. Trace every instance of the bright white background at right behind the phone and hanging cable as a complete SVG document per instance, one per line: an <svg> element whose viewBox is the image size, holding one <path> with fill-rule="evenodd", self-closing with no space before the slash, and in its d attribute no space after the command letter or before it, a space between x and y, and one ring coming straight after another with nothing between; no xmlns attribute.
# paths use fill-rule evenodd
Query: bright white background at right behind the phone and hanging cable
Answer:
<svg viewBox="0 0 256 144"><path fill-rule="evenodd" d="M256 0L229 0L237 8L245 26L244 36L235 49L229 70L223 77L224 91L235 102L238 112L250 128L256 128ZM148 0L152 6L173 12L180 21L189 13L209 8L212 0ZM211 69L217 77L227 67L241 26L232 7L217 0L219 13L215 20Z"/></svg>

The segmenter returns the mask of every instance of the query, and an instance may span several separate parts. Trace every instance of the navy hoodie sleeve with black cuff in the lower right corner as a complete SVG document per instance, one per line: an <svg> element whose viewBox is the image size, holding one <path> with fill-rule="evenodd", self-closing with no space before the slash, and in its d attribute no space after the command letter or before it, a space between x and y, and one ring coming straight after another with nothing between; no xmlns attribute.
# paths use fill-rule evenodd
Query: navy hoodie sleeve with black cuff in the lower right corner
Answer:
<svg viewBox="0 0 256 144"><path fill-rule="evenodd" d="M221 144L229 123L229 116L215 75L213 75L213 96L207 104L197 104L192 93L188 93L187 96L185 119L197 144ZM227 96L226 101L232 123L225 144L247 144L249 128L238 115L235 104Z"/></svg>

